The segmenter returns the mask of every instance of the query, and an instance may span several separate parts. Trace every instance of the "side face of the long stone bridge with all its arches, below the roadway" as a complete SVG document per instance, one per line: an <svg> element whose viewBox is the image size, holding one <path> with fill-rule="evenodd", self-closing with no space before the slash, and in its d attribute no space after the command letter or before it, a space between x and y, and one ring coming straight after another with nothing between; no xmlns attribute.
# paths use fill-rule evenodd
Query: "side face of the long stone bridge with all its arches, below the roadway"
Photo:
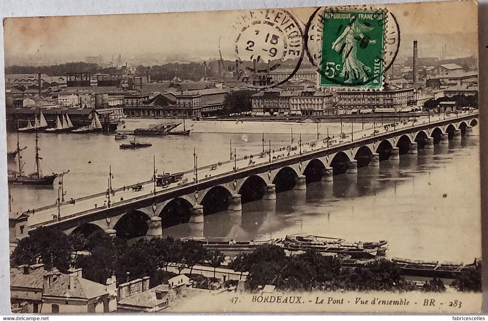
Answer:
<svg viewBox="0 0 488 321"><path fill-rule="evenodd" d="M273 159L270 162L205 178L178 189L150 194L142 199L110 208L73 213L61 220L29 226L57 226L66 233L90 234L101 229L124 238L161 236L162 229L181 223L203 224L204 215L231 210L238 213L242 204L276 199L276 193L306 189L306 184L331 182L335 175L356 175L364 166L399 161L403 154L419 149L432 150L435 144L461 140L477 125L477 113L456 119L415 124L394 131L358 137L328 148Z"/></svg>

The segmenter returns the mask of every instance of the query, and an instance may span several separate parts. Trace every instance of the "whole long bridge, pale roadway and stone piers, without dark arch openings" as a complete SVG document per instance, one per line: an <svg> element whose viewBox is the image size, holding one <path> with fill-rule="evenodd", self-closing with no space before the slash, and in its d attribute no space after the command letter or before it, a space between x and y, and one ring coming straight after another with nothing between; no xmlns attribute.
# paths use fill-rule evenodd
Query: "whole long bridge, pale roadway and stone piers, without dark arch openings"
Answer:
<svg viewBox="0 0 488 321"><path fill-rule="evenodd" d="M188 178L187 183L180 183L180 185L178 185L178 183L173 183L165 188L157 187L155 192L154 183L152 180L143 182L141 191L133 191L130 187L119 188L116 189L115 194L111 195L110 197L110 207L108 207L106 204L108 200L106 192L101 192L95 195L77 199L75 204L70 204L69 201L65 201L62 202L59 207L57 204L54 204L35 209L34 211L29 210L29 212L24 212L24 214L27 214L24 215L24 217L28 216L27 225L29 230L40 226L55 225L69 232L72 231L74 227L80 226L83 223L97 220L106 220L107 226L105 229L112 229L114 224L110 224L110 217L117 215L120 216L123 215L123 213L127 213L134 209L142 209L142 211L147 213L148 216L155 216L157 212L161 211L162 206L167 204L169 200L182 197L182 195L186 195L184 198L190 203L198 205L199 199L203 199L203 195L199 195L199 193L204 193L208 191L208 189L217 185L227 184L227 189L232 191L233 188L233 194L235 195L239 191L239 189L236 189L236 185L240 185L242 187L242 181L250 175L260 174L264 180L269 181L269 188L269 186L271 186L270 183L272 182L270 177L272 171L274 172L274 176L276 176L276 172L278 170L292 165L296 167L297 164L300 165L299 169L296 171L300 173L299 176L301 176L303 179L305 189L305 176L302 175L302 162L310 161L319 157L325 158L326 162L328 162L329 155L332 156L334 153L349 150L351 151L352 156L353 149L357 151L361 146L368 144L372 144L373 152L375 152L374 149L376 143L387 139L393 139L393 142L395 142L396 137L400 137L405 134L412 135L412 138L410 138L411 144L416 144L413 142L413 135L415 133L420 131L430 131L430 134L427 134L427 137L430 137L433 129L435 128L444 129L442 132L446 133L446 129L449 124L464 121L465 125L469 125L473 119L477 118L477 116L477 111L463 112L459 114L451 113L450 115L431 115L430 117L422 116L416 118L417 121L415 123L412 123L412 121L408 121L406 124L403 122L397 122L395 129L393 129L391 124L390 128L387 129L379 124L374 126L373 124L368 123L365 124L365 127L367 126L367 128L364 130L361 129L354 131L353 137L351 137L351 132L347 133L347 130L344 130L347 136L343 139L335 137L334 139L336 142L333 144L330 143L328 147L327 143L324 142L323 138L321 138L313 141L316 143L316 146L314 147L311 147L311 142L303 143L301 146L301 152L300 147L295 145L297 146L297 150L290 151L289 156L287 155L288 151L280 151L280 147L275 147L275 150L271 151L271 157L269 157L269 153L267 153L267 148L265 147L266 155L264 157L260 154L253 155L252 161L255 162L254 164L249 164L249 160L251 159L249 157L247 157L247 159L244 159L244 157L238 157L236 160L227 160L222 162L219 166L217 166L216 170L211 170L210 165L200 167L197 170L197 182L195 182L194 170L189 170L185 172L184 176L185 178ZM350 126L347 127L347 125L345 127L351 128ZM361 127L361 125L358 125L358 127ZM459 126L455 126L456 131L459 131L458 127ZM373 133L373 128L376 129L376 133ZM395 146L394 144L392 145L393 147ZM239 156L239 151L236 153ZM285 156L280 157L280 155L283 154ZM351 162L355 162L352 160L352 157L350 158ZM234 166L237 166L237 169L234 169ZM328 169L330 169L330 176L332 176L332 169ZM268 175L267 179L266 174ZM238 181L240 183L237 183ZM272 186L272 192L274 192L274 185ZM270 198L272 199L273 197ZM240 195L239 200L237 201L237 208L240 209ZM200 209L200 212L202 212L202 209ZM60 214L59 216L58 213ZM200 220L203 220L203 215L202 219L197 219L197 221ZM155 224L161 225L161 222L156 222ZM16 235L17 234L19 233L16 233Z"/></svg>

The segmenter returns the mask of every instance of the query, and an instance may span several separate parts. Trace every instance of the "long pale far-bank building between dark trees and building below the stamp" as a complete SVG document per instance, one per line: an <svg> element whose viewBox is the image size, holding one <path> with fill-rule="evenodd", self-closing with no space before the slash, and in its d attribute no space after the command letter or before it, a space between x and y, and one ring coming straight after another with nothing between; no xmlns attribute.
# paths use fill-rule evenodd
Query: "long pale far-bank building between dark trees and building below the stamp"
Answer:
<svg viewBox="0 0 488 321"><path fill-rule="evenodd" d="M335 114L332 94L317 90L281 91L267 90L252 95L252 114L270 115L309 115L323 116Z"/></svg>

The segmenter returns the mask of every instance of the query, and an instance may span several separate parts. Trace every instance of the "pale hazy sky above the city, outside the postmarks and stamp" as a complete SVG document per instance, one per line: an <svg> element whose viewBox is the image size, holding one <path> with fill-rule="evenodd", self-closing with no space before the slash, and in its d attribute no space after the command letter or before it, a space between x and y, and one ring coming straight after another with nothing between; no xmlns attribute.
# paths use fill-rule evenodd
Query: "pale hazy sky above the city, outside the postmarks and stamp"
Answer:
<svg viewBox="0 0 488 321"><path fill-rule="evenodd" d="M410 55L419 41L420 57L476 55L477 5L474 1L390 4L402 35L400 56ZM314 8L289 11L304 27ZM153 57L161 61L234 55L239 11L185 12L105 16L8 18L4 22L5 64L24 58L84 60L102 55L110 60ZM229 57L233 58L233 57Z"/></svg>

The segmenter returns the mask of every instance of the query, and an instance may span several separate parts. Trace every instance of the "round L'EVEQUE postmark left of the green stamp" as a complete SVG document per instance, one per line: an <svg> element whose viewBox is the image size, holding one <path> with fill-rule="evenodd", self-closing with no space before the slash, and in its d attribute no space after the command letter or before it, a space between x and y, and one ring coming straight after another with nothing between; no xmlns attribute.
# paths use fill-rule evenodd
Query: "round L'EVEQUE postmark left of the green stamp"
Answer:
<svg viewBox="0 0 488 321"><path fill-rule="evenodd" d="M241 13L234 23L238 81L258 89L285 83L298 71L305 56L305 40L300 23L285 9ZM277 69L282 73L273 76L273 71Z"/></svg>

